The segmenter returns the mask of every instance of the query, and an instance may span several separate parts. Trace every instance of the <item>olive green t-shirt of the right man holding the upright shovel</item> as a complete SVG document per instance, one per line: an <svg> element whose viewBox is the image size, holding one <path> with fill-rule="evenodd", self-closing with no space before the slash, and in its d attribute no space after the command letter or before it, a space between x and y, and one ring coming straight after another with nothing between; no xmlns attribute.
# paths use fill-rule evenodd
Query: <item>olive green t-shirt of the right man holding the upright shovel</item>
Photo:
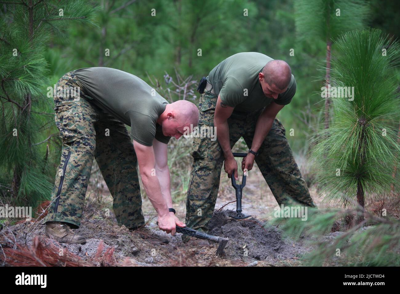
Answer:
<svg viewBox="0 0 400 294"><path fill-rule="evenodd" d="M234 54L211 70L208 82L224 104L234 107L234 112L254 112L272 101L280 105L289 104L296 93L293 75L288 89L276 100L266 97L262 91L258 74L270 60L273 59L258 52Z"/></svg>

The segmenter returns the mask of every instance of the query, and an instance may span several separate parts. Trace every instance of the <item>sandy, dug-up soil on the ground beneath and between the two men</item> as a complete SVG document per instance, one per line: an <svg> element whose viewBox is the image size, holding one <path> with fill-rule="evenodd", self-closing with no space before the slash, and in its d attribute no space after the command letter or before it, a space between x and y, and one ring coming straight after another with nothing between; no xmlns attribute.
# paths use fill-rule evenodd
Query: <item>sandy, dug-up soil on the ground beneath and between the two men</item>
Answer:
<svg viewBox="0 0 400 294"><path fill-rule="evenodd" d="M314 187L310 187L310 193L314 202L322 206L321 198L318 198ZM217 210L210 222L209 233L229 238L223 256L216 255L217 244L204 247L188 246L182 243L181 234L169 235L171 242L164 244L144 240L124 226L117 226L111 209L112 198L101 176L91 179L86 195L84 219L80 228L75 230L77 234L86 238L86 244L58 244L45 236L44 226L34 222L9 226L8 236L28 247L32 246L35 236L41 236L40 240L43 244L52 243L57 248L68 249L68 252L76 254L82 260L93 260L99 250L104 253L114 247L114 257L118 265L278 266L301 264L302 254L311 249L305 242L307 238L294 242L284 238L276 226L268 224L268 219L274 212L277 202L258 168L250 171L243 190L243 210L252 217L240 221L228 218L229 210L235 210L236 203L228 204L224 210L218 211L226 203L234 200L234 189L226 174L222 172L216 203ZM182 198L174 205L177 216L184 220L185 199ZM110 216L106 216L106 208L110 208ZM157 230L159 234L165 234L158 230L154 218L156 213L146 197L143 199L143 212L145 219L149 220L147 226ZM331 233L332 236L327 237L333 238L338 233L340 232ZM4 242L4 240L0 241Z"/></svg>

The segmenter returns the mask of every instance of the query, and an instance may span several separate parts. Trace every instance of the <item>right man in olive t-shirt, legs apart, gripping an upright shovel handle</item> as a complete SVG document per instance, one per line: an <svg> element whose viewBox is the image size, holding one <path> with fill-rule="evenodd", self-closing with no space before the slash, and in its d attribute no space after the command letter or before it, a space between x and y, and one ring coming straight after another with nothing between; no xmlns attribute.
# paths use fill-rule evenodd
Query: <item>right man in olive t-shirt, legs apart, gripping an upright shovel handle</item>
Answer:
<svg viewBox="0 0 400 294"><path fill-rule="evenodd" d="M231 149L240 137L249 148L242 170L251 170L255 160L279 205L290 205L294 200L300 205L315 207L293 158L285 128L276 118L296 93L290 66L258 52L238 53L211 70L203 87L199 85L200 90L204 86L199 102L199 128L216 127L218 140L194 138L186 202L187 226L208 232L223 162L228 177L238 180L238 167ZM182 240L204 243L186 236Z"/></svg>

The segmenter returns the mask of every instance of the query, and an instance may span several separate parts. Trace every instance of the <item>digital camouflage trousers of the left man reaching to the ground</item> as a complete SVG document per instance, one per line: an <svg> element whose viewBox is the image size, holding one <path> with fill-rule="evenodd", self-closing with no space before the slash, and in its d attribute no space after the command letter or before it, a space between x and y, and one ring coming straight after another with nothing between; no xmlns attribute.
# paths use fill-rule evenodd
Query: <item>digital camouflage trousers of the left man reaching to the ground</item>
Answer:
<svg viewBox="0 0 400 294"><path fill-rule="evenodd" d="M57 89L79 87L80 96L54 95L55 121L62 139L61 163L44 222L67 222L79 227L93 159L113 197L119 226L144 225L137 158L124 124L90 102L73 72L62 76ZM56 93L55 93L56 94ZM76 92L74 92L76 94ZM85 98L83 98L83 96Z"/></svg>

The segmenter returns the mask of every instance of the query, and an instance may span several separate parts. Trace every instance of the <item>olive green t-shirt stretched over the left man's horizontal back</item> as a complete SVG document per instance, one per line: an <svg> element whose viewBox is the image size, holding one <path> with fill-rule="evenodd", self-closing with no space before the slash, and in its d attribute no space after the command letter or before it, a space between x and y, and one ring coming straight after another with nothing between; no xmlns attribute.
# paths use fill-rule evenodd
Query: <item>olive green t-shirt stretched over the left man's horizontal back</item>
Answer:
<svg viewBox="0 0 400 294"><path fill-rule="evenodd" d="M130 138L145 146L153 139L168 144L171 137L162 134L157 124L168 101L144 80L133 74L107 67L80 68L74 71L83 93L95 105L131 127Z"/></svg>

